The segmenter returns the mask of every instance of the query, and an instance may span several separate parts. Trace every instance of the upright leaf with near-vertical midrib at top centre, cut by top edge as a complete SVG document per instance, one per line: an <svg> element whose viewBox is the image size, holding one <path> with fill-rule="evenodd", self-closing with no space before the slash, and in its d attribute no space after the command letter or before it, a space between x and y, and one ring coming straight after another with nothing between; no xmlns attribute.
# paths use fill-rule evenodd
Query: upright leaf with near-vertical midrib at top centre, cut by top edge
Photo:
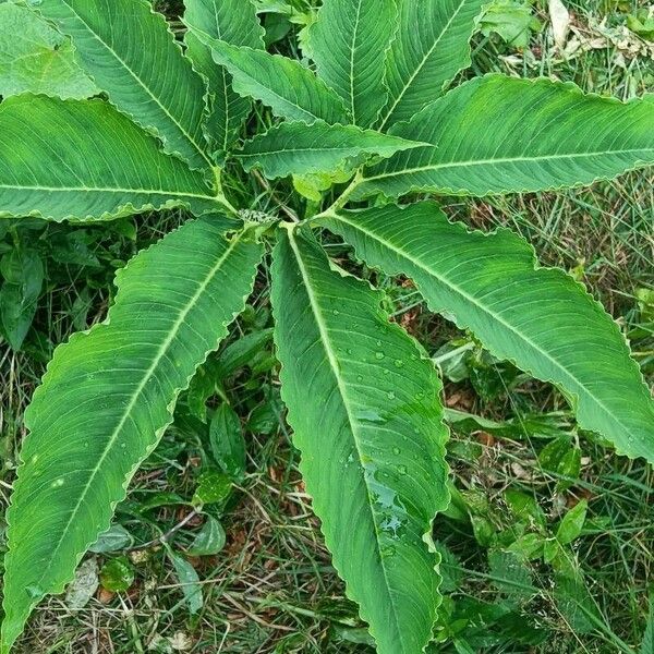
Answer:
<svg viewBox="0 0 654 654"><path fill-rule="evenodd" d="M395 0L325 0L308 28L308 53L318 75L362 128L377 121L388 100L385 59L397 25Z"/></svg>

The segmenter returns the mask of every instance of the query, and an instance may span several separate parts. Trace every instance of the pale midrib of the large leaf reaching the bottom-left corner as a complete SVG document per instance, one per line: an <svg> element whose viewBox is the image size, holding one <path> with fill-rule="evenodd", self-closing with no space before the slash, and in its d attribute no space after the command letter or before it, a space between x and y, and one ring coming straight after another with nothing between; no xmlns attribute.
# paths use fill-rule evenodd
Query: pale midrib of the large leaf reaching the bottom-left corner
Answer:
<svg viewBox="0 0 654 654"><path fill-rule="evenodd" d="M57 559L57 554L59 553L59 549L61 548L61 545L62 545L65 536L68 535L69 530L70 530L71 525L73 524L73 522L74 522L74 520L75 520L75 518L77 516L77 512L80 511L80 508L82 507L84 500L86 499L86 495L88 494L88 491L90 489L90 486L92 486L93 482L95 481L97 474L99 473L99 471L101 469L101 465L105 462L106 458L109 456L112 447L116 445L118 438L120 437L120 434L121 434L124 425L126 424L128 419L130 417L130 414L131 414L132 410L136 405L136 402L138 401L138 398L141 397L141 395L145 390L145 387L146 387L147 383L153 378L155 372L157 371L157 367L159 366L159 363L166 356L166 354L168 352L168 349L170 348L170 346L173 343L174 339L177 338L178 332L179 332L181 326L184 324L186 317L189 316L189 314L191 313L191 311L193 311L193 308L195 307L195 305L197 304L197 302L199 301L199 299L202 298L202 295L204 294L204 292L206 291L206 289L208 288L208 286L211 283L211 280L218 274L218 271L222 268L222 265L229 258L229 256L231 255L231 253L233 252L233 250L235 249L235 246L240 243L241 239L242 239L242 234L238 234L230 242L228 249L220 256L220 258L218 259L218 262L216 263L216 265L211 267L211 269L209 270L208 275L205 277L204 281L198 286L196 292L193 294L193 296L191 298L191 300L189 301L189 303L186 304L186 306L180 312L178 318L175 319L175 322L172 325L172 328L170 329L170 332L169 332L168 337L165 339L165 341L161 343L161 346L157 350L157 354L155 355L155 359L154 359L153 363L150 364L150 366L145 372L142 380L140 382L138 386L136 387L134 393L132 395L132 399L126 404L125 410L124 410L124 412L123 412L123 414L122 414L122 416L121 416L118 425L116 426L116 428L111 433L111 436L109 437L107 446L102 450L102 453L99 456L96 465L92 469L93 472L89 475L88 481L85 484L84 489L81 493L80 498L78 498L76 505L73 507L73 510L71 511L70 518L69 518L69 520L68 520L64 529L61 532L62 535L57 541L57 545L52 549L52 554L50 555L50 560L51 561ZM159 429L160 428L162 428L162 426L159 427ZM46 567L46 569L44 570L41 577L39 578L39 581L36 584L37 586L45 579L45 577L49 572L50 568L51 568L51 566L47 566Z"/></svg>

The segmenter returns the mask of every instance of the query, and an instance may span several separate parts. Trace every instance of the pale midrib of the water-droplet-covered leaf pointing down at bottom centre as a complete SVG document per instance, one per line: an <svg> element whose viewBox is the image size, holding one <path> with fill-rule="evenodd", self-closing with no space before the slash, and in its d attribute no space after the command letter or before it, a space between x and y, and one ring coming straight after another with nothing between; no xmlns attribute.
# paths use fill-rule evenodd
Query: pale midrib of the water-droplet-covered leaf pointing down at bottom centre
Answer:
<svg viewBox="0 0 654 654"><path fill-rule="evenodd" d="M391 607L391 613L393 616L395 632L396 632L396 634L400 634L401 630L399 627L399 620L398 620L398 616L397 616L396 608L395 608L395 602L392 600L392 594L390 592L390 584L388 582L388 576L386 573L386 568L383 562L384 557L382 556L382 552L379 548L379 532L377 530L377 522L375 521L375 511L372 507L373 502L372 502L372 497L371 497L371 489L367 485L367 481L366 481L365 473L364 473L364 468L363 468L364 455L361 451L361 447L360 447L360 443L359 443L356 421L354 420L354 416L352 415L352 412L350 410L350 402L348 399L349 396L348 396L347 385L346 385L344 380L342 379L342 377L340 376L338 361L336 359L336 354L334 353L334 348L331 347L331 339L329 337L329 327L327 326L325 318L323 316L320 303L317 300L316 293L311 284L310 277L306 271L306 266L304 265L302 255L300 254L300 250L298 249L298 244L295 243L295 240L294 240L294 234L291 230L289 230L289 243L291 245L293 254L295 255L295 259L298 262L298 268L300 269L300 274L302 275L302 280L304 282L304 288L306 289L306 294L308 296L311 310L315 317L316 325L318 327L318 331L320 334L320 342L323 343L325 354L327 355L327 361L329 362L329 367L330 367L334 378L336 380L338 391L341 396L343 408L346 410L346 414L348 417L348 423L350 425L350 431L351 431L353 439L354 439L354 447L356 448L356 453L359 455L359 462L361 464L362 475L363 475L363 479L365 482L365 487L366 487L366 493L367 493L367 498L368 498L366 506L370 508L371 520L372 520L373 526L375 529L375 536L376 536L375 537L375 548L376 548L377 555L379 557L379 567L382 568L382 571L384 574L384 580L386 582L385 588L388 592L388 601L389 601L389 605Z"/></svg>

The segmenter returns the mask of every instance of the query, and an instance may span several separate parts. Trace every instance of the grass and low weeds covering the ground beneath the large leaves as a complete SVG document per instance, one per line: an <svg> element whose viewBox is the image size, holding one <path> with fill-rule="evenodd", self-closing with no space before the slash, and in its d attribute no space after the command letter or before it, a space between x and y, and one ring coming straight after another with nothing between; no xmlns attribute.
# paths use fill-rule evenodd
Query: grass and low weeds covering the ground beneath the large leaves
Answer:
<svg viewBox="0 0 654 654"><path fill-rule="evenodd" d="M298 2L296 9L303 5ZM596 26L603 17L617 29L625 14L638 9L637 2L601 0L568 5L576 31L590 41L602 36ZM162 9L179 11L172 2ZM535 11L545 24L544 7L537 3ZM654 90L654 64L645 55L626 57L608 43L606 48L565 60L553 52L546 31L533 34L524 52L480 36L473 71L491 70L554 75L585 90L622 98ZM590 190L484 203L450 198L446 209L473 227L508 226L519 231L534 244L543 263L561 266L583 280L625 326L651 382L653 310L639 305L639 296L654 287L653 182L652 171L634 172ZM246 190L244 184L255 186ZM254 190L257 210L277 211L290 202L286 182L270 187L231 171L226 185L237 196ZM13 234L36 242L47 254L49 282L24 351L13 352L0 342L2 507L25 436L21 416L52 348L75 329L102 319L116 268L181 220L183 216L171 213L122 221L113 233L93 227L38 227ZM72 232L84 234L97 266L55 261L49 243ZM348 262L348 252L338 243L331 247ZM230 342L241 334L261 334L269 327L266 277L264 269ZM376 281L387 289L396 319L441 362L448 407L498 423L496 429L465 422L453 429L450 464L461 494L455 506L469 511L472 520L451 510L436 523L446 557L448 597L437 632L443 642L431 652L633 651L645 628L652 583L652 471L641 461L616 457L591 435L578 434L557 392L488 360L464 335L429 316L410 284L379 277ZM184 549L203 522L189 502L206 457L207 427L193 415L193 398L186 398L174 428L119 507L117 523L132 534L133 543L90 557L100 568L107 560L126 557L134 583L124 592L99 590L80 609L72 609L64 597L51 598L37 609L17 652L372 651L356 609L330 566L298 472L298 452L279 405L269 342L220 392L230 398L245 425L247 474L227 506L215 508L227 532L225 549L190 559L199 582L180 581L165 545ZM209 407L215 408L218 396L209 395ZM567 437L571 441L567 449L580 451L579 467L553 467L546 447L553 438ZM521 510L517 497L522 498ZM540 542L550 541L562 517L580 501L589 505L583 531L554 565L538 558L516 565L497 555L525 533L537 533ZM564 572L577 580L573 588L561 583ZM192 616L186 595L197 589L204 607Z"/></svg>

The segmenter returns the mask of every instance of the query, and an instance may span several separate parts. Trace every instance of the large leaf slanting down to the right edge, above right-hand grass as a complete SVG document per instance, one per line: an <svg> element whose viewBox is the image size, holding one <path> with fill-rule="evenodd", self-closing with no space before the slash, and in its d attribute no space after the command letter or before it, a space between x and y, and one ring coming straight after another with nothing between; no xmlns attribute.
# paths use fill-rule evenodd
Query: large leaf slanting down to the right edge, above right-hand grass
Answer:
<svg viewBox="0 0 654 654"><path fill-rule="evenodd" d="M358 255L407 275L500 359L558 385L581 427L654 462L654 402L617 325L564 271L538 268L513 232L469 232L434 203L343 211L327 222Z"/></svg>

